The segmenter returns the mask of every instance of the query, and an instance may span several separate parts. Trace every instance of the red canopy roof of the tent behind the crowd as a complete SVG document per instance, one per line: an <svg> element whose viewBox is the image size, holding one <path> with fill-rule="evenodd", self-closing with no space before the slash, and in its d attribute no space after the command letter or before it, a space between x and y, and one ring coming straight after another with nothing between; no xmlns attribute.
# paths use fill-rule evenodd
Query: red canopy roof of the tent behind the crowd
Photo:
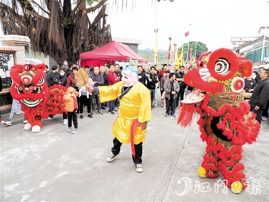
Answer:
<svg viewBox="0 0 269 202"><path fill-rule="evenodd" d="M147 63L148 61L134 51L132 51L127 45L112 41L105 46L89 52L80 53L80 59L93 59L93 60L117 60L117 61L129 61L138 60L139 62Z"/></svg>

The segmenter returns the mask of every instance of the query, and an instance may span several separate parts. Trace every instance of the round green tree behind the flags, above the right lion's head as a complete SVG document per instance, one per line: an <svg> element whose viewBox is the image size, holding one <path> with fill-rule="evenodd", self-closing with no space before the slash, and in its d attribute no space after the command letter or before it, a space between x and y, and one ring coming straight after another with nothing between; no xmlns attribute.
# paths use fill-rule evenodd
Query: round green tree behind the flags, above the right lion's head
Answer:
<svg viewBox="0 0 269 202"><path fill-rule="evenodd" d="M195 43L196 41L190 41L189 42L189 49L192 49L192 55L195 55ZM179 53L181 52L182 47L179 47L178 51ZM196 44L196 59L200 57L202 52L208 51L206 45L200 41L197 42ZM183 56L186 59L187 58L187 52L188 52L188 44L185 43L183 44Z"/></svg>

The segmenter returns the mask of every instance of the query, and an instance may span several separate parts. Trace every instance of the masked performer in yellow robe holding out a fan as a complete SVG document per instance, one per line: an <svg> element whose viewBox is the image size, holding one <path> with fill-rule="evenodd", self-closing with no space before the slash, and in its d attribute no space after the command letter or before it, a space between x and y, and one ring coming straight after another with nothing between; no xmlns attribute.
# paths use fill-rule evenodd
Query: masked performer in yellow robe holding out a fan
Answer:
<svg viewBox="0 0 269 202"><path fill-rule="evenodd" d="M151 120L150 91L138 82L138 72L134 66L122 71L122 81L112 86L91 87L86 89L99 95L101 102L120 99L118 117L112 126L112 153L107 161L119 155L122 144L131 143L132 157L137 172L142 172L142 143L145 141L147 122Z"/></svg>

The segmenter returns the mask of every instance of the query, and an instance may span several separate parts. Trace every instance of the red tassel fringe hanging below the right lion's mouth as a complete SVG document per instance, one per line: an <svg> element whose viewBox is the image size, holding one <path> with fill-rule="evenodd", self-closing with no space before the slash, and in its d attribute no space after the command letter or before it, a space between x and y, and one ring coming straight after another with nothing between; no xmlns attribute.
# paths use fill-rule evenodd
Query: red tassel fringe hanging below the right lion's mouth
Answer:
<svg viewBox="0 0 269 202"><path fill-rule="evenodd" d="M195 103L192 104L182 104L182 108L179 111L178 124L181 127L186 127L191 125L193 113L194 113Z"/></svg>

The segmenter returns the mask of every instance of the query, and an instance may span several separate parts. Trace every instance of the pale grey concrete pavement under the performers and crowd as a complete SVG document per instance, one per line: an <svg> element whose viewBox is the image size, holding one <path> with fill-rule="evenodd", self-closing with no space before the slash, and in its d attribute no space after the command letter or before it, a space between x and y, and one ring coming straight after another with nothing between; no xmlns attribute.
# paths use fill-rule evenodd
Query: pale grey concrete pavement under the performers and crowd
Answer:
<svg viewBox="0 0 269 202"><path fill-rule="evenodd" d="M62 115L43 121L39 133L23 130L22 115L15 116L12 126L0 125L0 201L269 201L268 122L263 121L257 142L243 147L246 178L256 181L241 194L221 189L216 193L221 175L214 179L197 175L205 151L198 117L190 128L180 128L176 119L164 117L158 102L143 144L142 173L135 171L130 145L123 145L113 162L106 161L116 119L108 110L93 119L84 113L74 135L66 132ZM199 191L199 182L208 187Z"/></svg>

